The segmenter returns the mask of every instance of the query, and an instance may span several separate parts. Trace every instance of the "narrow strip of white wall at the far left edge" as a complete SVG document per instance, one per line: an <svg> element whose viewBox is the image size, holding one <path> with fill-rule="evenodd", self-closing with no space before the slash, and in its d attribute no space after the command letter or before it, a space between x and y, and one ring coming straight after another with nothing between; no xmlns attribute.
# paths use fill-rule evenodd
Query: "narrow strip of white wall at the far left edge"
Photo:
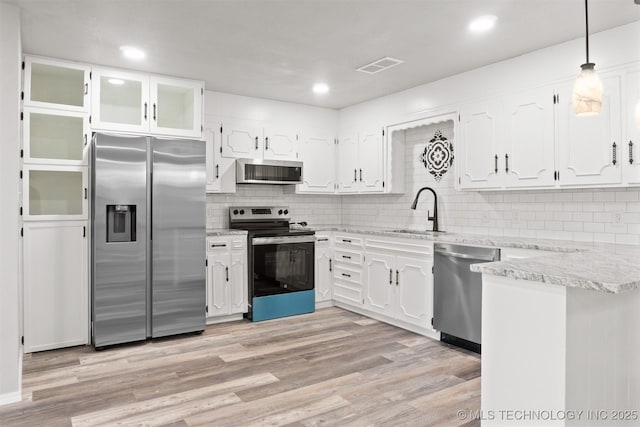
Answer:
<svg viewBox="0 0 640 427"><path fill-rule="evenodd" d="M0 3L0 405L20 400L20 12Z"/></svg>

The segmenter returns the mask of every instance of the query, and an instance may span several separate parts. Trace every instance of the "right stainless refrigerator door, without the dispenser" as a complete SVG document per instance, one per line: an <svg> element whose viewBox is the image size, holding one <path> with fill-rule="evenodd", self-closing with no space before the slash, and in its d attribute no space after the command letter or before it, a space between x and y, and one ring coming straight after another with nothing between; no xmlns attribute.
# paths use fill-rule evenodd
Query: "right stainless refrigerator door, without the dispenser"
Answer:
<svg viewBox="0 0 640 427"><path fill-rule="evenodd" d="M152 138L152 336L202 331L206 301L204 141Z"/></svg>

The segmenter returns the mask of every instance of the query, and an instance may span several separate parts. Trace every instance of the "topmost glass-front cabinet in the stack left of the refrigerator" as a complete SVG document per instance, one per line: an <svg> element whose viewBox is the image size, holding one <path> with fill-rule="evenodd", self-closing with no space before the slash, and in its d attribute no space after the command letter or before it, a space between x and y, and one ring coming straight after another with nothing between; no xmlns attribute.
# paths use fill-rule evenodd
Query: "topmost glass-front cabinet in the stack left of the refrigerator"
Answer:
<svg viewBox="0 0 640 427"><path fill-rule="evenodd" d="M88 112L90 71L85 64L25 56L24 105Z"/></svg>

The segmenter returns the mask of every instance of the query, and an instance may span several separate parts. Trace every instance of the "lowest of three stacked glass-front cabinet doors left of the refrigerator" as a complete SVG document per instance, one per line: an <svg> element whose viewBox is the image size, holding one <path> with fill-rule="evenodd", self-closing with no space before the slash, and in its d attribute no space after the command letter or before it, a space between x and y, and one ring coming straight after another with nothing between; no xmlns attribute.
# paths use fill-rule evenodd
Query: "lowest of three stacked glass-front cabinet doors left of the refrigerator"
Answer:
<svg viewBox="0 0 640 427"><path fill-rule="evenodd" d="M87 219L87 168L25 165L23 217L34 220Z"/></svg>

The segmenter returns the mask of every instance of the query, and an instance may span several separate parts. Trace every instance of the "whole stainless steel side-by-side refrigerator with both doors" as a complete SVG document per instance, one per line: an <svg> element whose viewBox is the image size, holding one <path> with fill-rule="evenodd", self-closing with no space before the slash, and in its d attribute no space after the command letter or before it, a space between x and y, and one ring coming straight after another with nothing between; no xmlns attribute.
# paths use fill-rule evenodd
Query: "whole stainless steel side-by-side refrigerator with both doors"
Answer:
<svg viewBox="0 0 640 427"><path fill-rule="evenodd" d="M204 141L95 134L92 342L205 328Z"/></svg>

